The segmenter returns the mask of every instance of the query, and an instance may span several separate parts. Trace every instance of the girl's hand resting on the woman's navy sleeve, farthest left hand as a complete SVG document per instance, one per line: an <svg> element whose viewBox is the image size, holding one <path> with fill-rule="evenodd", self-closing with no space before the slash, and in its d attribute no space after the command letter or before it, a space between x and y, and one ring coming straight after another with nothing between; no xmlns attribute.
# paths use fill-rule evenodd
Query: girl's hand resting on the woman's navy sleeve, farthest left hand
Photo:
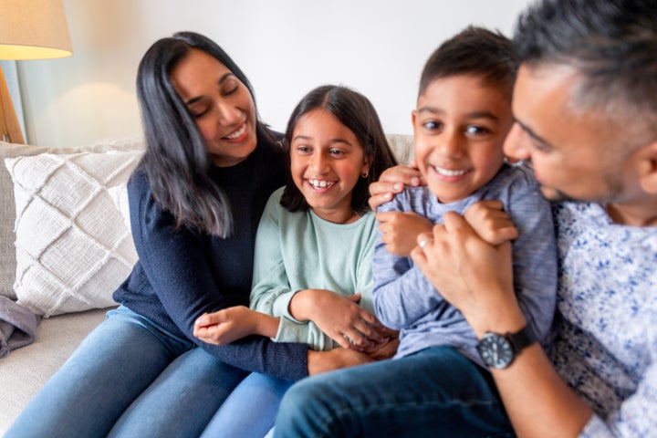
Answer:
<svg viewBox="0 0 657 438"><path fill-rule="evenodd" d="M197 318L193 335L209 344L226 345L249 335L276 338L277 330L278 318L245 306L235 306Z"/></svg>

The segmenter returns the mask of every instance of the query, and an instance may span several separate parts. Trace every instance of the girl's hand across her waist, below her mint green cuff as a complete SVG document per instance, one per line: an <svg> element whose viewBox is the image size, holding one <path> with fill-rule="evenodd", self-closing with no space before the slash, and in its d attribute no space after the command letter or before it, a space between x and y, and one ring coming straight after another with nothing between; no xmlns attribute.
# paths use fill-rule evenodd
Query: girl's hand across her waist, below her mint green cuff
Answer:
<svg viewBox="0 0 657 438"><path fill-rule="evenodd" d="M387 342L379 319L358 304L360 294L342 297L326 289L304 289L290 301L290 314L311 320L344 349L368 351Z"/></svg>

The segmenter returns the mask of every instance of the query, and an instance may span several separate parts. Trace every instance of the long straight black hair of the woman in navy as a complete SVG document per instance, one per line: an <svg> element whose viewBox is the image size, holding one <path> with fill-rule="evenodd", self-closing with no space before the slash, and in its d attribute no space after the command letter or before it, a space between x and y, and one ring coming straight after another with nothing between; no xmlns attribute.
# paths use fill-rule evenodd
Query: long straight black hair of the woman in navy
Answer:
<svg viewBox="0 0 657 438"><path fill-rule="evenodd" d="M255 97L242 70L213 40L179 32L156 41L141 58L137 98L141 108L146 170L155 201L176 219L208 235L230 235L233 217L224 191L210 177L213 162L187 106L172 86L170 74L193 49L203 50L224 64ZM274 149L275 139L259 117L258 146Z"/></svg>

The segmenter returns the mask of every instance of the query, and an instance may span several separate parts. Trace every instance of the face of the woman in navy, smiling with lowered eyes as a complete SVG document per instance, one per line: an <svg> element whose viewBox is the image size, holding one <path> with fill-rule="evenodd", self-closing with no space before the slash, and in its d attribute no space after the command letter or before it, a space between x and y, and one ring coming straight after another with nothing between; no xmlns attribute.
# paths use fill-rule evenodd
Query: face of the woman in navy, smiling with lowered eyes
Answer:
<svg viewBox="0 0 657 438"><path fill-rule="evenodd" d="M219 167L242 162L255 151L255 104L251 93L216 58L193 49L170 79Z"/></svg>

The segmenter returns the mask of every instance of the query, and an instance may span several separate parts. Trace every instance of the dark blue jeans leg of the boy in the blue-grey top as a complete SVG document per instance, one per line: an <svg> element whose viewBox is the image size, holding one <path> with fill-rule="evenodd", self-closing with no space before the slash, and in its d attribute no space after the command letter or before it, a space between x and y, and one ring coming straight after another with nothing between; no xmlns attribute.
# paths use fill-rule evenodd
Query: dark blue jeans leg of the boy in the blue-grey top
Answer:
<svg viewBox="0 0 657 438"><path fill-rule="evenodd" d="M515 436L487 370L450 347L298 381L276 437Z"/></svg>

